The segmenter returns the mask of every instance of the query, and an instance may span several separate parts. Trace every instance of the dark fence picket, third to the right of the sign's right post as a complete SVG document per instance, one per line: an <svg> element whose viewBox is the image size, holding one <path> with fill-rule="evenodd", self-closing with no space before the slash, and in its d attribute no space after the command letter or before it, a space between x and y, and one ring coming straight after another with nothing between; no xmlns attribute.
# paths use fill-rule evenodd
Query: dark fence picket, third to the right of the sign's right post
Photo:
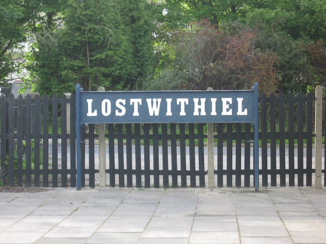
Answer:
<svg viewBox="0 0 326 244"><path fill-rule="evenodd" d="M280 93L278 96L279 103L279 132L280 132L280 142L279 142L279 152L280 152L280 186L286 186L285 181L285 137L284 137L284 95Z"/></svg>

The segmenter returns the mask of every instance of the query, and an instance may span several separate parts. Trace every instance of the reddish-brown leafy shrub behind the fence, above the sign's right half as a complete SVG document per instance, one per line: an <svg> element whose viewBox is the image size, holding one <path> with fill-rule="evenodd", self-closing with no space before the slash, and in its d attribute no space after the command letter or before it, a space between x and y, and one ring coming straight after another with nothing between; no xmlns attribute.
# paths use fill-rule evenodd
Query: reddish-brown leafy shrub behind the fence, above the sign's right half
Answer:
<svg viewBox="0 0 326 244"><path fill-rule="evenodd" d="M216 29L207 21L196 23L191 32L178 38L176 61L185 72L188 89L251 89L275 91L278 83L273 52L255 49L256 34L241 30L236 34Z"/></svg>

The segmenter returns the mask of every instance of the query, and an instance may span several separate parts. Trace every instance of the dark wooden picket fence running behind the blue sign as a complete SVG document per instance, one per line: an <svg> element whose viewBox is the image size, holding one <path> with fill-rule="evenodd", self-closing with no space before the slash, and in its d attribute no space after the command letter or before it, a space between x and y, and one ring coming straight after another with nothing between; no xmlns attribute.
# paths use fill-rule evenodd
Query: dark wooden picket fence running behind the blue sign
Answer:
<svg viewBox="0 0 326 244"><path fill-rule="evenodd" d="M312 93L290 93L287 97L262 94L261 186L311 186L313 107ZM70 125L66 124L67 116ZM83 186L96 185L96 133L95 125L88 125L82 133ZM204 124L107 125L108 183L120 187L204 187L206 137ZM252 126L216 124L214 140L215 185L253 186ZM30 95L17 99L12 94L0 96L1 181L9 185L75 187L75 147L73 94L69 99L65 95L36 95L33 99Z"/></svg>

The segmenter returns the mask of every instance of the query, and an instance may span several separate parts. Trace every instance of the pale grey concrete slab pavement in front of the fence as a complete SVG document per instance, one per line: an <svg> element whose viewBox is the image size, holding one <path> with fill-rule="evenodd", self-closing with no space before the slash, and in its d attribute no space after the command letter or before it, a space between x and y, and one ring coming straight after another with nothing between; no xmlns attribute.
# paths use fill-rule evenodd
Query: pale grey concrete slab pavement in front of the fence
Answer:
<svg viewBox="0 0 326 244"><path fill-rule="evenodd" d="M0 193L0 243L326 243L326 189Z"/></svg>

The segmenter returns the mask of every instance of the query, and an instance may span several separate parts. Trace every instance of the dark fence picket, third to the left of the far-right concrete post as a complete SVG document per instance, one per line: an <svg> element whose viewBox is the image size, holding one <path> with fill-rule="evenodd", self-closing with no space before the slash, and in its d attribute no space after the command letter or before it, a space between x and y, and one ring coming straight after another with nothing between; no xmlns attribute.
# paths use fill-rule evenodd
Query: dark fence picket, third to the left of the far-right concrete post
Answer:
<svg viewBox="0 0 326 244"><path fill-rule="evenodd" d="M294 186L294 96L288 95L289 186Z"/></svg>

